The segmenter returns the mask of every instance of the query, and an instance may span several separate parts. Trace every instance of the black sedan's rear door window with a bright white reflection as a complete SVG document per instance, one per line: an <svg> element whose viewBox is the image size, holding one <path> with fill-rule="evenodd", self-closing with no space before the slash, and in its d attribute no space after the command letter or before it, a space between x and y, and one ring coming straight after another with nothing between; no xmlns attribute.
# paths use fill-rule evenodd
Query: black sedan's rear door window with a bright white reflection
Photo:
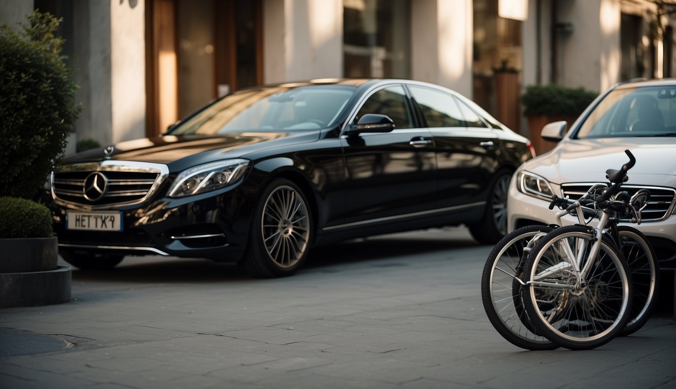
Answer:
<svg viewBox="0 0 676 389"><path fill-rule="evenodd" d="M460 127L462 115L453 96L420 86L409 86L428 127Z"/></svg>

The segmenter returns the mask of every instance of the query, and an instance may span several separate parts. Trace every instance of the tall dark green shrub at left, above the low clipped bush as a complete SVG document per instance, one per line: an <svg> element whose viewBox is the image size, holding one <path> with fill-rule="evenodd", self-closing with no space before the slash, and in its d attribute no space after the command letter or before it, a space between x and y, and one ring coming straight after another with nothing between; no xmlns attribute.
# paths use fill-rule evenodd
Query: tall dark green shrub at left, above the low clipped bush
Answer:
<svg viewBox="0 0 676 389"><path fill-rule="evenodd" d="M22 31L0 27L0 196L34 197L78 119L77 86L55 37L59 22L35 11Z"/></svg>

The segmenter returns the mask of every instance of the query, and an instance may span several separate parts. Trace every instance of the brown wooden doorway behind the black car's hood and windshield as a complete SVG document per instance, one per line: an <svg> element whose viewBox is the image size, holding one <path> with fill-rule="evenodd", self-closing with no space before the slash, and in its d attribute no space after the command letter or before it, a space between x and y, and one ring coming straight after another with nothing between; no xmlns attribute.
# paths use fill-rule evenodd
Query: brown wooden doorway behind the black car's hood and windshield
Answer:
<svg viewBox="0 0 676 389"><path fill-rule="evenodd" d="M262 0L147 0L146 135L261 84Z"/></svg>

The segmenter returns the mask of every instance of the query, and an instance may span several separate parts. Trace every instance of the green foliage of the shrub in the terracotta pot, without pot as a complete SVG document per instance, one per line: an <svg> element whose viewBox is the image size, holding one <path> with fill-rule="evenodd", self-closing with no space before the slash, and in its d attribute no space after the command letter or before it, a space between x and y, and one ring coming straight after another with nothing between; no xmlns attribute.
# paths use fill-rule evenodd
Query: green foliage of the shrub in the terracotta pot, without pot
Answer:
<svg viewBox="0 0 676 389"><path fill-rule="evenodd" d="M521 96L525 116L579 116L598 93L556 84L531 85Z"/></svg>

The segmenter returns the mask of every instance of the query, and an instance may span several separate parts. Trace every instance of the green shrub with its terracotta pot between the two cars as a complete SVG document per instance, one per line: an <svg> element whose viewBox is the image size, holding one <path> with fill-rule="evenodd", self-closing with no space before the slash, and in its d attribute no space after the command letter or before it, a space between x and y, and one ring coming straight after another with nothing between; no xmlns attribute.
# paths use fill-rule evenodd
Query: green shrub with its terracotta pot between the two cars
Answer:
<svg viewBox="0 0 676 389"><path fill-rule="evenodd" d="M584 88L569 88L557 84L527 86L521 96L523 114L528 118L531 142L535 153L542 154L554 148L541 136L542 128L551 122L564 120L568 126L596 99L598 93Z"/></svg>

